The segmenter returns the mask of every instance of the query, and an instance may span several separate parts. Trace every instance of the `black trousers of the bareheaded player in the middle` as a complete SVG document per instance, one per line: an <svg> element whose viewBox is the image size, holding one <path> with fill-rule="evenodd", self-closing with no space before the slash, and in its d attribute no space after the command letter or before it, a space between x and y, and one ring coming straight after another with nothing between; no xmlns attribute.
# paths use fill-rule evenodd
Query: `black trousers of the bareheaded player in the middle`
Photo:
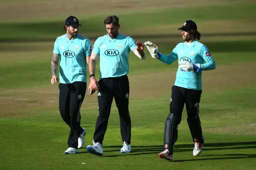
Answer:
<svg viewBox="0 0 256 170"><path fill-rule="evenodd" d="M102 144L108 126L108 118L113 98L116 101L120 117L120 128L123 142L130 144L131 119L129 113L130 86L127 75L114 78L103 78L98 81L98 110L99 115L94 132L94 142Z"/></svg>

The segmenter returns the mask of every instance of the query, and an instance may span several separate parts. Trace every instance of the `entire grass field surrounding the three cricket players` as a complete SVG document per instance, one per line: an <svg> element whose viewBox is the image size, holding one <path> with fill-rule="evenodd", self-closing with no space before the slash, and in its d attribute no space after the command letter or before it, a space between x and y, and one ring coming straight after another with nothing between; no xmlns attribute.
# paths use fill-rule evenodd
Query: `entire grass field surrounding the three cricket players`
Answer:
<svg viewBox="0 0 256 170"><path fill-rule="evenodd" d="M0 0L0 169L256 169L256 4L253 0ZM68 7L82 4L64 13ZM59 4L59 6L58 6ZM114 4L114 5L113 5ZM140 12L138 6L144 6ZM154 8L158 5L158 8ZM24 12L23 7L31 10ZM91 8L89 8L89 6ZM97 6L97 10L93 6ZM115 6L111 10L111 6ZM33 7L33 8L32 8ZM88 10L83 10L88 9ZM193 10L189 16L185 13ZM49 12L46 12L46 11ZM152 41L168 54L181 42L177 28L192 19L202 33L202 43L216 61L214 71L204 71L200 119L206 138L202 154L192 155L194 144L184 109L174 160L158 158L164 122L169 113L171 87L177 61L165 65L147 53L146 60L130 55L130 115L132 152L120 154L122 138L113 101L104 138L104 156L65 155L68 126L58 111L58 85L51 85L50 60L57 36L69 15L79 16L80 33L95 38L106 34L106 16L120 17L120 32L136 41ZM46 12L46 13L45 13ZM79 18L78 18L79 19ZM97 76L99 65L97 63ZM97 96L86 96L81 108L85 147L92 144ZM82 164L86 163L86 164Z"/></svg>

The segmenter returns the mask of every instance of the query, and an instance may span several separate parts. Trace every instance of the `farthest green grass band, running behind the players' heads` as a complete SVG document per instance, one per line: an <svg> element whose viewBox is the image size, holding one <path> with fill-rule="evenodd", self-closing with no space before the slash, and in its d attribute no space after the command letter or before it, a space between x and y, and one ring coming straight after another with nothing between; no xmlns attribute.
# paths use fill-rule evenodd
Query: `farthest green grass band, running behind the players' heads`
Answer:
<svg viewBox="0 0 256 170"><path fill-rule="evenodd" d="M195 22L211 21L211 20L228 20L234 18L249 18L256 17L256 4L236 4L230 6L204 6L200 10L192 10L189 14L189 19L192 18ZM138 28L148 28L155 26L165 26L168 24L181 24L188 20L188 15L185 11L189 8L174 8L151 10L148 13L133 13L120 14L120 25L122 32ZM138 18L139 15L139 18ZM84 19L80 19L82 27L80 33L85 36L96 34L101 36L106 34L103 21L106 16L92 15ZM181 23L182 22L182 23ZM28 23L2 23L0 28L0 40L22 40L22 39L47 39L61 36L63 30L63 21L54 22L28 22ZM161 32L156 30L155 32Z"/></svg>

